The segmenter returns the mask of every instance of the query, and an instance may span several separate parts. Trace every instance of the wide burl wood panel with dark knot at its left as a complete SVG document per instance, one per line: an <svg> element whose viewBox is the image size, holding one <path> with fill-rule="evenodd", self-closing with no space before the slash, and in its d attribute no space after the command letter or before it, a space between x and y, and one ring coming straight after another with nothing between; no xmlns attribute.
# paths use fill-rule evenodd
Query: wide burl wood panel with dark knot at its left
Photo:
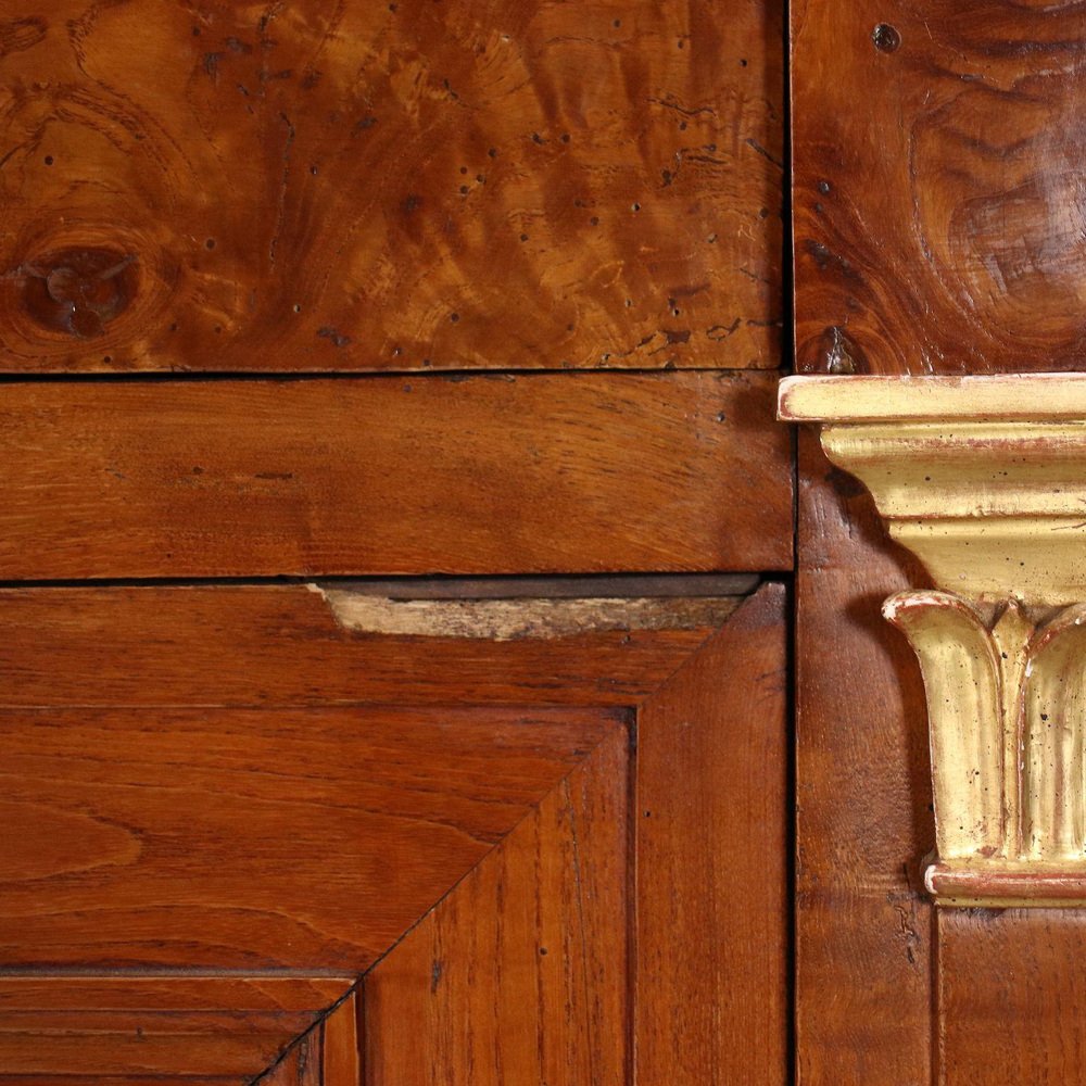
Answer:
<svg viewBox="0 0 1086 1086"><path fill-rule="evenodd" d="M775 366L782 5L0 4L0 369Z"/></svg>

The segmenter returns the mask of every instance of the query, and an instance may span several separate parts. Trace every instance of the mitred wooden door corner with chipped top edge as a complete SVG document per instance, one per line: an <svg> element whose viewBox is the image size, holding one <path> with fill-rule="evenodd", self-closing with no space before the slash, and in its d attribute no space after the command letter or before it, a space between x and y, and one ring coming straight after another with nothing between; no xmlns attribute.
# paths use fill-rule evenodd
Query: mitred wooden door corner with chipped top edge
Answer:
<svg viewBox="0 0 1086 1086"><path fill-rule="evenodd" d="M785 1081L783 586L312 588L0 592L0 1084Z"/></svg>

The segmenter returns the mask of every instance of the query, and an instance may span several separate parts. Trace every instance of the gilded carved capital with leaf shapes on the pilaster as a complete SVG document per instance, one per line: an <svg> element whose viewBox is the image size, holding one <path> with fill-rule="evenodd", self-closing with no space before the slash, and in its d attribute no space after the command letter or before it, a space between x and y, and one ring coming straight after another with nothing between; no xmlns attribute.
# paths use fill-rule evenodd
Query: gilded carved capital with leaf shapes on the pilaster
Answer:
<svg viewBox="0 0 1086 1086"><path fill-rule="evenodd" d="M1086 907L1086 375L792 377L780 417L937 585L883 606L927 697L927 889Z"/></svg>

